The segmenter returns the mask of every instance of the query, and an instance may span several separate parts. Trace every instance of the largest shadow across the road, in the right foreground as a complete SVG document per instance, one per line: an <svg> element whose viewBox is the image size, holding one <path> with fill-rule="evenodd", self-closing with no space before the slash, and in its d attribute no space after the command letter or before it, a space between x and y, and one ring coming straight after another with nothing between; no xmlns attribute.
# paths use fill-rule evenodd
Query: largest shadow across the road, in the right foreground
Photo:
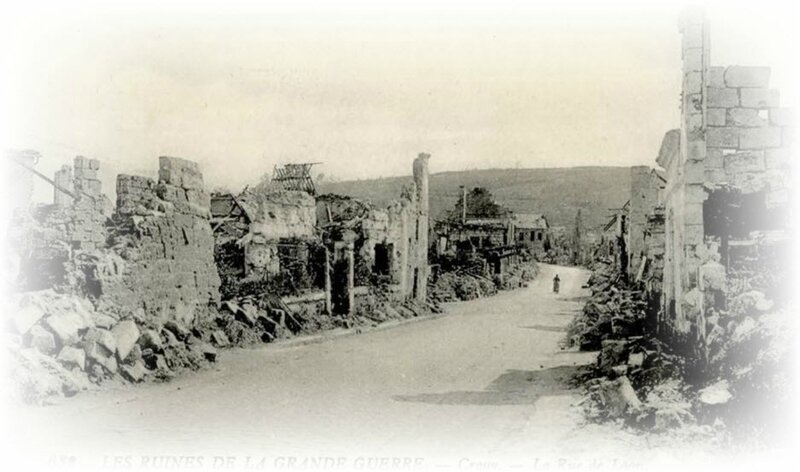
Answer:
<svg viewBox="0 0 800 472"><path fill-rule="evenodd" d="M455 391L395 395L402 402L434 405L530 405L541 396L568 395L576 388L575 378L587 366L559 366L543 370L508 370L478 392Z"/></svg>

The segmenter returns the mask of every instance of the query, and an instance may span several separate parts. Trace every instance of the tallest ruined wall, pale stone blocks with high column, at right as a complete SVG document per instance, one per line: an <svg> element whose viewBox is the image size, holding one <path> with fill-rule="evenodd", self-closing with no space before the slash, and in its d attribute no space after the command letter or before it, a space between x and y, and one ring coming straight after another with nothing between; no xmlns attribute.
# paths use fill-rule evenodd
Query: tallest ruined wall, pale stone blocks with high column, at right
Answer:
<svg viewBox="0 0 800 472"><path fill-rule="evenodd" d="M786 206L793 129L790 111L768 87L769 68L711 67L702 11L687 12L680 31L681 128L667 133L658 159L668 182L660 327L700 346L706 308L726 280L704 204L710 192L733 188L761 199L764 209Z"/></svg>

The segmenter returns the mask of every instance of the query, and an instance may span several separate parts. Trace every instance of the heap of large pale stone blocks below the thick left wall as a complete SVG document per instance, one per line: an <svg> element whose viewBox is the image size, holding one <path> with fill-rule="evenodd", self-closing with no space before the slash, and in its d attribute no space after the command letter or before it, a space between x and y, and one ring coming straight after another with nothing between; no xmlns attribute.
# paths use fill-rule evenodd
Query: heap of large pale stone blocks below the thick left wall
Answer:
<svg viewBox="0 0 800 472"><path fill-rule="evenodd" d="M216 359L224 333L200 332L142 311L119 317L85 298L52 290L9 300L7 338L19 397L42 403L107 382L168 379Z"/></svg>

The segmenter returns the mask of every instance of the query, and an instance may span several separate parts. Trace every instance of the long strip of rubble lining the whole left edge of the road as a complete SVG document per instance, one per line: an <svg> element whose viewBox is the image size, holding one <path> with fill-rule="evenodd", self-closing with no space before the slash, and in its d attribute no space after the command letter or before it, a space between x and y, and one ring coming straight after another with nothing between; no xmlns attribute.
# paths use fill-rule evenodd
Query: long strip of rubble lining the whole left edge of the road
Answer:
<svg viewBox="0 0 800 472"><path fill-rule="evenodd" d="M222 303L190 326L159 324L142 310L120 316L80 296L53 290L10 300L7 343L16 395L47 403L101 384L162 381L216 361L218 348L247 347L334 328L360 328L424 316L438 306L391 303L376 292L349 317L264 294Z"/></svg>

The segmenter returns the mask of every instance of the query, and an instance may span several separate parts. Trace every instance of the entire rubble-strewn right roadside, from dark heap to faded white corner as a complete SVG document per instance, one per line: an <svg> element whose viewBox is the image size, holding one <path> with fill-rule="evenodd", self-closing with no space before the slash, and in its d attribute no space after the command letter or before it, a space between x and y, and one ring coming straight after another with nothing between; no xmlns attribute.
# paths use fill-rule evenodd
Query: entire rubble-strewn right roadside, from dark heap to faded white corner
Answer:
<svg viewBox="0 0 800 472"><path fill-rule="evenodd" d="M565 347L599 351L583 378L587 419L718 444L786 439L776 432L791 421L789 316L774 286L764 285L774 279L763 275L732 277L727 308L708 317L709 349L701 353L646 329L645 291L599 264L588 284L592 295L564 340Z"/></svg>

